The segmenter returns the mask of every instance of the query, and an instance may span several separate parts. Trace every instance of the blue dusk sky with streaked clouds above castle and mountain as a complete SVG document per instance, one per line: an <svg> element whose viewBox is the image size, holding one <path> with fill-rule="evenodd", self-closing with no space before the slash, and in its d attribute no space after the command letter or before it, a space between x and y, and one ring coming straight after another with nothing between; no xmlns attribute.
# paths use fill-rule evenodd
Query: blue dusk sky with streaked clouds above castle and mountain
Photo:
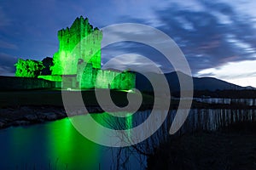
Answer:
<svg viewBox="0 0 256 170"><path fill-rule="evenodd" d="M17 59L44 59L58 50L57 31L83 15L92 26L120 23L153 26L183 51L194 77L217 77L256 87L256 1L251 0L1 0L0 75L13 76ZM152 59L173 71L162 54L146 45L119 42L102 49L102 65L121 54L127 63Z"/></svg>

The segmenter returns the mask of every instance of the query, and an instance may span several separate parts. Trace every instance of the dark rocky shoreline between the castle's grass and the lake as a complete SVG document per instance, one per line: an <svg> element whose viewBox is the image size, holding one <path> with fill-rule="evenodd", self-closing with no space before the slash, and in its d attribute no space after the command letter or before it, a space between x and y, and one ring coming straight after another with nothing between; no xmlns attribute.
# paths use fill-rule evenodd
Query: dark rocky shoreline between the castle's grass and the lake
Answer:
<svg viewBox="0 0 256 170"><path fill-rule="evenodd" d="M150 110L149 105L143 105L139 111ZM87 106L88 114L101 114L100 106ZM74 111L73 116L83 115L82 111ZM54 105L23 105L19 107L0 108L0 129L7 127L28 126L32 124L51 122L66 118L67 112L63 106Z"/></svg>

